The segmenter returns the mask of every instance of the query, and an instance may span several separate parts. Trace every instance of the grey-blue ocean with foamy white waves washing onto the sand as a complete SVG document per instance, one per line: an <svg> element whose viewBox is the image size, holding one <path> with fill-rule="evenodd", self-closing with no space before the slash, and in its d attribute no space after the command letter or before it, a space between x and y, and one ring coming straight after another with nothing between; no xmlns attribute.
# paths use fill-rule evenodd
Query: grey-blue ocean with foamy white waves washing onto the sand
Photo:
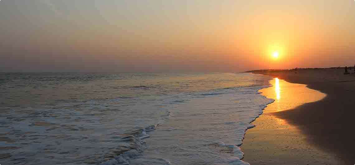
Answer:
<svg viewBox="0 0 355 165"><path fill-rule="evenodd" d="M248 165L251 73L0 73L0 164Z"/></svg>

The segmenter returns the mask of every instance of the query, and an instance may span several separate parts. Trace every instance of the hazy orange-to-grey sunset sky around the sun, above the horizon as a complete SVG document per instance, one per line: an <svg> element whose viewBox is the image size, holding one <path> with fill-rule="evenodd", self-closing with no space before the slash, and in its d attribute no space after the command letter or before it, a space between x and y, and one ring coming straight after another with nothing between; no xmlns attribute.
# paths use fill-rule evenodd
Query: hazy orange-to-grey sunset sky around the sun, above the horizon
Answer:
<svg viewBox="0 0 355 165"><path fill-rule="evenodd" d="M0 72L355 64L354 0L1 0L0 22Z"/></svg>

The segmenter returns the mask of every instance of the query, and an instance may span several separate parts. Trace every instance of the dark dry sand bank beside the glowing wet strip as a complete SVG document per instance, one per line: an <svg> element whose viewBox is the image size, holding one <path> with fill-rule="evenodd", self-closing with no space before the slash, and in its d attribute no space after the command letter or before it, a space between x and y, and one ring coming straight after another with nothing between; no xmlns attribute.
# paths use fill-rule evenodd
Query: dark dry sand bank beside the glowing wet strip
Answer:
<svg viewBox="0 0 355 165"><path fill-rule="evenodd" d="M343 75L342 69L254 73L278 77L290 83L306 84L307 88L327 94L322 100L275 112L273 116L296 126L310 146L334 155L340 164L354 164L352 120L355 116L355 74Z"/></svg>

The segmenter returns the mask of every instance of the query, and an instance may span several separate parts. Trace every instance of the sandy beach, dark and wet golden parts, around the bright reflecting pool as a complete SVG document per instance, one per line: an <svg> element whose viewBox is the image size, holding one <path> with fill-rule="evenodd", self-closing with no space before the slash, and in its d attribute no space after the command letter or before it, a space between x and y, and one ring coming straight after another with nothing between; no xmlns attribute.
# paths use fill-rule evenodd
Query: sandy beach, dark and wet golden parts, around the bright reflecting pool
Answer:
<svg viewBox="0 0 355 165"><path fill-rule="evenodd" d="M264 114L252 123L256 127L246 132L242 145L244 160L250 164L263 163L270 158L277 158L272 160L277 160L276 163L279 164L354 164L352 119L355 114L355 74L343 75L343 72L344 69L335 68L255 71L254 73L277 77L289 83L306 84L307 88L320 91L326 96L319 101L306 102L291 108L284 107L277 112L272 107L274 103L270 104ZM294 90L292 93L297 95L297 92L299 91ZM279 120L284 123L273 124ZM279 129L278 126L285 128ZM278 136L280 137L277 138ZM253 149L255 146L268 149ZM273 152L278 151L283 151L283 154L273 157Z"/></svg>

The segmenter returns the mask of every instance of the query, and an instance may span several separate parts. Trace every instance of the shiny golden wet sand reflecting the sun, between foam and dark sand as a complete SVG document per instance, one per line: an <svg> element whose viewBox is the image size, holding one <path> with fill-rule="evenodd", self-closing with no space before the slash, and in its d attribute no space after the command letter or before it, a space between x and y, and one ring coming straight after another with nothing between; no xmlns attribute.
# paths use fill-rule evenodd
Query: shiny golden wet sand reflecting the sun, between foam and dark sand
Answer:
<svg viewBox="0 0 355 165"><path fill-rule="evenodd" d="M332 153L313 145L299 126L276 114L287 112L310 102L326 98L326 94L307 88L305 84L273 79L273 86L261 89L262 95L274 99L248 129L241 146L243 161L254 164L341 164ZM275 89L278 89L275 91Z"/></svg>

